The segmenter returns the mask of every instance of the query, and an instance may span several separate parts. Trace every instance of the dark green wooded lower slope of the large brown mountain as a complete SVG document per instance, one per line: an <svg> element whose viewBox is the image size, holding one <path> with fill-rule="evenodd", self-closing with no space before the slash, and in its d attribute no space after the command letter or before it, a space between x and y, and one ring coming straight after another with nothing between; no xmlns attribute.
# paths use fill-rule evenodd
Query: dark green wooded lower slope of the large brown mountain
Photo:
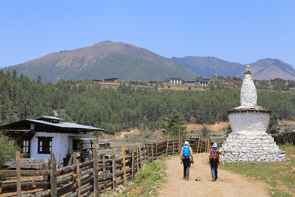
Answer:
<svg viewBox="0 0 295 197"><path fill-rule="evenodd" d="M184 79L194 79L196 74L188 74L184 71L157 63L149 59L123 53L112 53L99 59L91 66L76 72L68 79L105 79L118 77L123 80L164 80L171 76L179 76Z"/></svg>

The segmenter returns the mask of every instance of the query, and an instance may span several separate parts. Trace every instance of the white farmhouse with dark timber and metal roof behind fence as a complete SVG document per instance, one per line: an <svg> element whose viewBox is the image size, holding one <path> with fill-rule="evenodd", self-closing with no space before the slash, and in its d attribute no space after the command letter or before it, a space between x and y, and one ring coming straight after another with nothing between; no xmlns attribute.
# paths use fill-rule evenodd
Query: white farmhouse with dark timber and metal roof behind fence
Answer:
<svg viewBox="0 0 295 197"><path fill-rule="evenodd" d="M57 162L65 163L73 151L92 148L93 138L86 132L103 130L60 121L63 119L40 116L0 126L0 131L17 139L30 159L50 158L50 152L53 152Z"/></svg>

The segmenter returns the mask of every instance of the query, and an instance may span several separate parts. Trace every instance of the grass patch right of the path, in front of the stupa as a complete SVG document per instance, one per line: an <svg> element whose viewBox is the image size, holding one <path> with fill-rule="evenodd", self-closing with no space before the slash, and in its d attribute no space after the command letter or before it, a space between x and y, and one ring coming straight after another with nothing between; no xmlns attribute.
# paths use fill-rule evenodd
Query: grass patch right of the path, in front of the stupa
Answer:
<svg viewBox="0 0 295 197"><path fill-rule="evenodd" d="M286 161L225 162L224 167L219 167L265 181L273 188L268 192L273 191L274 197L291 197L291 194L295 195L295 146L284 144L279 147L286 152Z"/></svg>

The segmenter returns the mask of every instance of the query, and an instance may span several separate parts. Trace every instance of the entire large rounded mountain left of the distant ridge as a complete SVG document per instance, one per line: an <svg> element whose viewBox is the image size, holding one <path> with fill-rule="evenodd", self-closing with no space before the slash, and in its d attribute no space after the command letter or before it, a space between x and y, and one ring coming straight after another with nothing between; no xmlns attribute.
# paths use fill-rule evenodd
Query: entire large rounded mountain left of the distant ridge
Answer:
<svg viewBox="0 0 295 197"><path fill-rule="evenodd" d="M127 56L130 57L127 58ZM112 64L117 64L121 61L121 58L123 58L123 62L121 62L120 65ZM128 60L130 60L130 62L128 62ZM96 61L99 62L94 64ZM153 64L152 62L158 64ZM98 68L96 68L95 65L97 65ZM110 65L111 68L109 67ZM122 67L122 65L129 65L129 68L123 70L125 67ZM134 74L135 71L133 69L136 71L139 70L137 66L145 70L145 72L141 70L142 75L140 76ZM158 67L158 69L155 67ZM99 79L118 77L119 80L123 80L124 74L127 76L127 78L125 76L125 79L129 80L131 80L131 78L129 78L131 76L136 79L141 77L141 79L156 80L161 79L158 74L159 69L162 69L160 72L168 71L167 74L173 74L172 76L176 77L183 76L192 79L197 76L188 67L170 58L165 58L147 49L130 44L110 41L71 51L50 53L35 60L3 68L4 72L8 69L16 69L18 72L28 76L31 80L37 79L37 76L40 75L43 82L54 83L58 82L59 79L81 79L81 76L83 76L83 79L85 77L86 79L94 79L92 77ZM87 70L84 71L84 69ZM93 70L97 72L95 75L91 73ZM75 75L73 76L73 74ZM115 76L115 74L117 76ZM154 75L158 78L154 78Z"/></svg>

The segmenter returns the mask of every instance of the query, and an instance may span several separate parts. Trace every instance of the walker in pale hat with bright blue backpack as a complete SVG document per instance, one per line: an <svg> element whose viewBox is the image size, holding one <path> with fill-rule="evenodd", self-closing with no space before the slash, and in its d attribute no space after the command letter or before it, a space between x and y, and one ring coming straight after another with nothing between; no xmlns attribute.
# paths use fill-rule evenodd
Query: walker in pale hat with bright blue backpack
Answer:
<svg viewBox="0 0 295 197"><path fill-rule="evenodd" d="M189 168L193 161L193 151L189 146L189 142L185 141L180 153L180 164L183 163L183 178L189 180Z"/></svg>

